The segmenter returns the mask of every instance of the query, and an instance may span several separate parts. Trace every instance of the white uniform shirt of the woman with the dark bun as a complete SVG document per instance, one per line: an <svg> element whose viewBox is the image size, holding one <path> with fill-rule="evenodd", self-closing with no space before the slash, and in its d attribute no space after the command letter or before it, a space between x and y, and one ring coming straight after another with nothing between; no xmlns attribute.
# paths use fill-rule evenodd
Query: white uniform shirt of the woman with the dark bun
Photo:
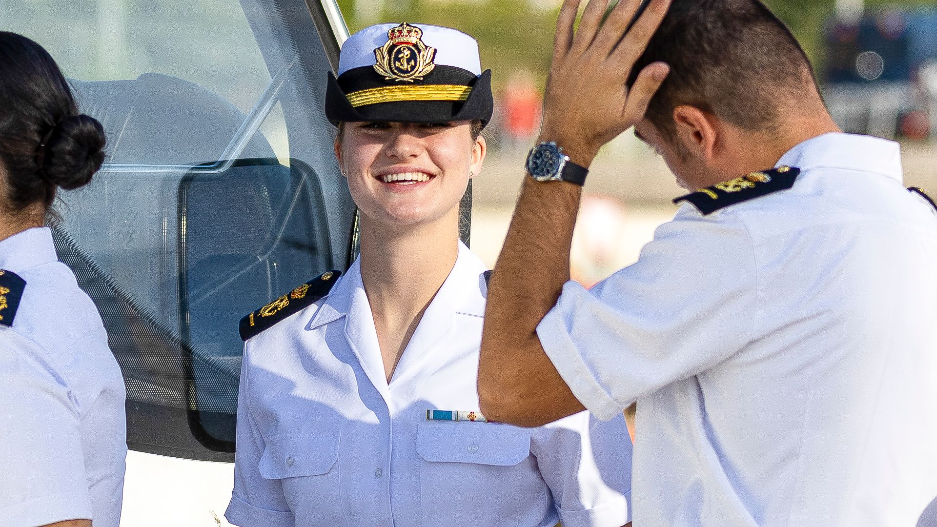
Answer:
<svg viewBox="0 0 937 527"><path fill-rule="evenodd" d="M47 228L0 241L0 269L26 281L13 325L0 325L0 525L117 527L124 379L97 308Z"/></svg>

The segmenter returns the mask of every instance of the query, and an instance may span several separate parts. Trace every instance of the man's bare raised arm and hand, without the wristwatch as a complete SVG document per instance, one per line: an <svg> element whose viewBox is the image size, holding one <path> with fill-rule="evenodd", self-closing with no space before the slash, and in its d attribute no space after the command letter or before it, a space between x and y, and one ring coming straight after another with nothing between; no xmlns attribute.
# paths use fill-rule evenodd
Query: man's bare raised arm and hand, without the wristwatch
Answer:
<svg viewBox="0 0 937 527"><path fill-rule="evenodd" d="M608 2L590 0L573 31L579 2L564 0L559 9L541 139L588 167L602 144L642 118L669 72L655 63L638 73L630 90L624 85L668 0L650 0L636 21L641 0L621 0L607 17ZM489 419L539 426L583 409L537 337L570 278L581 196L572 183L524 182L485 310L478 393Z"/></svg>

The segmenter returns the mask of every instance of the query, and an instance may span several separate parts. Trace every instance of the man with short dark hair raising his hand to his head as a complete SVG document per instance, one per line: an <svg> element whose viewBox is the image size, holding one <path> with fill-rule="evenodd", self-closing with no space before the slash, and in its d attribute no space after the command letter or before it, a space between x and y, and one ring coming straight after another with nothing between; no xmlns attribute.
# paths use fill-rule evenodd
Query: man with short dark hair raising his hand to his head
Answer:
<svg viewBox="0 0 937 527"><path fill-rule="evenodd" d="M937 211L899 146L840 132L759 0L592 0L573 34L578 4L490 282L483 414L636 400L635 525L915 525L937 496ZM692 192L586 291L581 186L632 126Z"/></svg>

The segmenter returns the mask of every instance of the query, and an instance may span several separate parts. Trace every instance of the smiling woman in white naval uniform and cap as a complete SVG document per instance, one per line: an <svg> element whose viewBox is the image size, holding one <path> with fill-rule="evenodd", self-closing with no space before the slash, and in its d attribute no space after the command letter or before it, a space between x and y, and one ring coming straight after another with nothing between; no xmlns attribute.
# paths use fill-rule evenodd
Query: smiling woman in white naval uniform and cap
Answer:
<svg viewBox="0 0 937 527"><path fill-rule="evenodd" d="M273 527L627 523L622 418L583 413L522 429L477 414L485 267L458 239L459 202L481 170L493 106L475 40L422 24L366 28L342 48L327 101L361 213L361 256L340 279L326 273L242 321L227 518Z"/></svg>

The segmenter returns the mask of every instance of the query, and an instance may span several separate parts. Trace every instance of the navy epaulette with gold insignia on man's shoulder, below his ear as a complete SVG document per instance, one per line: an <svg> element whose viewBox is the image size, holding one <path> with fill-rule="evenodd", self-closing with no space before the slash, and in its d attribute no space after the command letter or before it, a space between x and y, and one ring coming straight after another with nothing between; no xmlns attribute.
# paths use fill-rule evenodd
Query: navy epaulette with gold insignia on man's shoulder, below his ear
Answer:
<svg viewBox="0 0 937 527"><path fill-rule="evenodd" d="M772 192L794 187L800 169L782 166L765 172L753 172L735 179L717 183L712 187L700 188L692 194L680 196L674 203L690 202L703 213L703 216L717 210L760 198Z"/></svg>

